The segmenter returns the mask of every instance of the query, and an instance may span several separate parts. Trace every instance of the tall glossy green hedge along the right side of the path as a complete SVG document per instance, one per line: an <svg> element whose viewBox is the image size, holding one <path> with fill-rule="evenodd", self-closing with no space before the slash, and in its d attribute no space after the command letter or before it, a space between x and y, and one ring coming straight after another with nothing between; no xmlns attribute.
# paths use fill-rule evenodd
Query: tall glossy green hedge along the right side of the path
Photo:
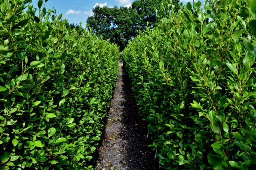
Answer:
<svg viewBox="0 0 256 170"><path fill-rule="evenodd" d="M256 1L168 12L123 51L163 169L256 166Z"/></svg>

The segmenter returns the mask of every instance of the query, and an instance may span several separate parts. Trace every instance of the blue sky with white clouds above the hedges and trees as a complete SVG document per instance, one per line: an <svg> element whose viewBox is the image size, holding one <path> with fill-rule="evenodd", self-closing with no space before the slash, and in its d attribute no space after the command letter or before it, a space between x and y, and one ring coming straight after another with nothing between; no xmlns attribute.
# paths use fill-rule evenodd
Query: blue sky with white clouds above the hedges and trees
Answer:
<svg viewBox="0 0 256 170"><path fill-rule="evenodd" d="M62 13L62 18L66 18L70 24L79 24L85 27L86 20L92 16L92 9L99 5L100 7L123 6L130 7L135 0L48 0L45 4L46 9L56 9L57 14ZM193 0L180 0L183 4ZM33 0L32 4L37 7L38 0ZM45 2L45 0L43 0Z"/></svg>

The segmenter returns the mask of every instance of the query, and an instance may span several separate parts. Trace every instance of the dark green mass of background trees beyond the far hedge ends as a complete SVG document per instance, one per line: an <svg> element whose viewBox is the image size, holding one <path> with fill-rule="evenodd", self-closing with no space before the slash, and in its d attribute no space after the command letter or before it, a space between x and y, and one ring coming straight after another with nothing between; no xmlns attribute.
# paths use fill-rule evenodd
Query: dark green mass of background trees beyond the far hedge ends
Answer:
<svg viewBox="0 0 256 170"><path fill-rule="evenodd" d="M129 40L138 35L138 30L144 31L146 26L154 27L157 23L155 9L160 10L162 0L136 0L130 8L99 7L93 8L93 16L87 19L87 24L93 33L101 35L116 43L122 51ZM179 0L174 0L175 9L179 9Z"/></svg>

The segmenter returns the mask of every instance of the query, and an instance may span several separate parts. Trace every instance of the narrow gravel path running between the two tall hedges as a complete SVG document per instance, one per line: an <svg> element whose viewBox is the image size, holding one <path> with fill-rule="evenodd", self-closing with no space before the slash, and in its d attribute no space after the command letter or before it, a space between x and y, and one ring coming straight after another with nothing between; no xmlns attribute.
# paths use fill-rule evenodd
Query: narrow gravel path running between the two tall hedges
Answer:
<svg viewBox="0 0 256 170"><path fill-rule="evenodd" d="M105 136L99 147L96 170L155 170L154 154L147 147L146 129L138 115L129 78L119 63L117 84Z"/></svg>

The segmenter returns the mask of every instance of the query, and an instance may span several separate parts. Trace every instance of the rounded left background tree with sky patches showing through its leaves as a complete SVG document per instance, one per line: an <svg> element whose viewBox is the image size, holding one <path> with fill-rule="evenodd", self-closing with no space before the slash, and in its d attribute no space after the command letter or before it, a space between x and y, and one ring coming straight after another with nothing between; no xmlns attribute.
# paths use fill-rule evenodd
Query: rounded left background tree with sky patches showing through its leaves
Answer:
<svg viewBox="0 0 256 170"><path fill-rule="evenodd" d="M102 35L104 39L110 39L110 42L116 43L121 51L128 41L135 37L134 23L138 20L138 14L134 9L96 6L93 14L87 19L87 24L92 28L93 33L97 32L97 35Z"/></svg>

